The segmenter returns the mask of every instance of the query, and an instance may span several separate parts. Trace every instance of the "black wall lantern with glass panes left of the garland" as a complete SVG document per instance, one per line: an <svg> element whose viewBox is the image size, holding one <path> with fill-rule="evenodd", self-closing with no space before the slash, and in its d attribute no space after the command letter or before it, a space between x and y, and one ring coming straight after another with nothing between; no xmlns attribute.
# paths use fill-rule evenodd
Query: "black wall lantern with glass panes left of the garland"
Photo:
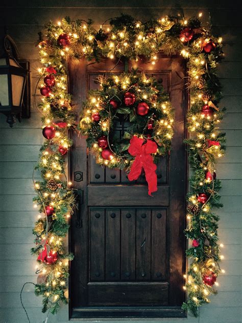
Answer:
<svg viewBox="0 0 242 323"><path fill-rule="evenodd" d="M20 65L16 45L9 35L4 37L3 50L0 56L0 112L7 116L12 127L15 117L21 121L23 96L29 92L26 87L29 75L27 69Z"/></svg>

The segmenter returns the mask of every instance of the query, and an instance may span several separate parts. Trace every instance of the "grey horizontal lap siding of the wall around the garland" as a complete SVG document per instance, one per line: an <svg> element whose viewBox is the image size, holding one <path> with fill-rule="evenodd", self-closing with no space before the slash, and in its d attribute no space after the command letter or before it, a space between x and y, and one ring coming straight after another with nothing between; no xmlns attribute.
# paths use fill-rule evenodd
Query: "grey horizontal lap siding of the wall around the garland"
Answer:
<svg viewBox="0 0 242 323"><path fill-rule="evenodd" d="M230 8L229 8L230 6ZM219 234L224 244L222 251L225 260L218 287L220 293L211 297L211 304L200 310L200 319L187 318L187 323L239 323L240 263L241 254L241 105L242 105L242 59L241 23L239 2L228 1L101 1L101 0L2 0L0 4L0 25L7 25L9 34L16 40L21 58L29 59L33 76L33 93L38 81L38 48L35 47L37 33L49 20L57 21L63 16L71 18L93 18L97 26L107 18L120 12L131 14L139 19L164 14L176 14L184 8L187 16L204 13L204 21L211 15L213 32L220 34L225 43L225 61L219 66L224 98L220 104L227 108L221 129L227 132L227 155L216 166L217 177L222 179L221 190L224 208L220 215ZM3 29L3 28L2 28ZM41 97L38 95L36 102ZM33 209L34 196L32 170L38 158L42 143L40 113L34 104L29 120L16 123L13 129L0 115L0 321L7 323L26 322L20 305L19 292L22 284L35 282L35 259L30 255L33 243L32 227L38 212ZM35 178L39 178L36 173ZM23 302L28 308L32 323L45 318L41 314L41 299L33 295L33 286L28 285L23 293ZM62 307L60 313L51 321L67 323L68 308ZM121 321L121 320L120 320ZM174 323L174 320L164 322ZM177 321L176 321L177 322Z"/></svg>

